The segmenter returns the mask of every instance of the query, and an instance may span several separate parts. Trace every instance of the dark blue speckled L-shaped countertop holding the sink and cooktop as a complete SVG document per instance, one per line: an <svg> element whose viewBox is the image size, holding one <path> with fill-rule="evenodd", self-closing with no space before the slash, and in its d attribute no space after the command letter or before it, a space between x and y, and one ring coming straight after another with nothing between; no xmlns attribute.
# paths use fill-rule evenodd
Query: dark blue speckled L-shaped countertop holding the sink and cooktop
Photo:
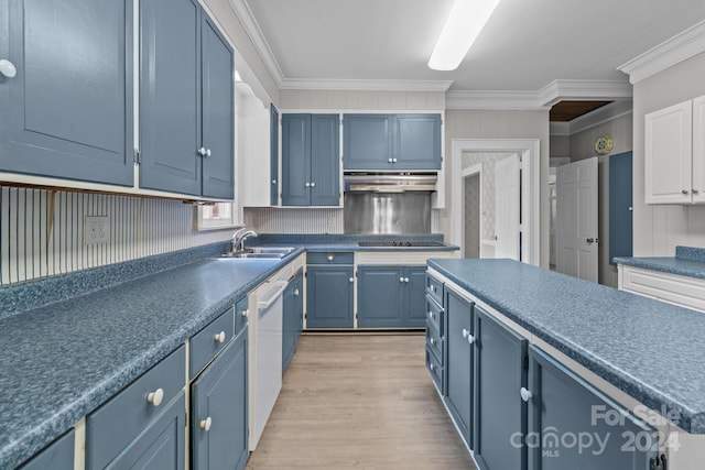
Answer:
<svg viewBox="0 0 705 470"><path fill-rule="evenodd" d="M215 259L229 242L214 243L0 287L0 469L41 450L304 249L458 249L358 245L401 239L443 242L437 234L263 234L250 241L300 250L283 261Z"/></svg>

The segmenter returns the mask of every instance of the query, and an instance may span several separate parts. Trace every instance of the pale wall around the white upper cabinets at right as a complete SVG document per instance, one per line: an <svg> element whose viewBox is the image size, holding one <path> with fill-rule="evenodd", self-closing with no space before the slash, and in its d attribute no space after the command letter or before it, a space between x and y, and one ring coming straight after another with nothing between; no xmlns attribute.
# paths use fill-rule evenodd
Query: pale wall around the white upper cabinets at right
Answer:
<svg viewBox="0 0 705 470"><path fill-rule="evenodd" d="M644 204L644 116L705 95L705 53L634 84L634 256L673 256L676 245L705 248L705 207Z"/></svg>

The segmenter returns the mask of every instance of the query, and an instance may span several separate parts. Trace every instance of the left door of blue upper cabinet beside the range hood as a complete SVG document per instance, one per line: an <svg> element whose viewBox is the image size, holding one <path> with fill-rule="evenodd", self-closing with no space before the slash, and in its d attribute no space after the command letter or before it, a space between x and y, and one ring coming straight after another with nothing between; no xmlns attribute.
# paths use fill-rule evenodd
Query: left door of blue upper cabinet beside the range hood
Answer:
<svg viewBox="0 0 705 470"><path fill-rule="evenodd" d="M282 206L311 204L311 114L282 116Z"/></svg>

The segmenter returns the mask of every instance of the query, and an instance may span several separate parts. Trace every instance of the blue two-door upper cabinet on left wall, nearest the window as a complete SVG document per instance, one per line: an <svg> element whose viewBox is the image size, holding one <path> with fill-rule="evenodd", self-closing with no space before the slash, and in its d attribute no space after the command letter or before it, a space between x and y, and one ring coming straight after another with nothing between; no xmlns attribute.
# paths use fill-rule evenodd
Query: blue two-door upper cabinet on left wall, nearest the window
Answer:
<svg viewBox="0 0 705 470"><path fill-rule="evenodd" d="M140 9L140 186L231 199L232 51L196 0Z"/></svg>

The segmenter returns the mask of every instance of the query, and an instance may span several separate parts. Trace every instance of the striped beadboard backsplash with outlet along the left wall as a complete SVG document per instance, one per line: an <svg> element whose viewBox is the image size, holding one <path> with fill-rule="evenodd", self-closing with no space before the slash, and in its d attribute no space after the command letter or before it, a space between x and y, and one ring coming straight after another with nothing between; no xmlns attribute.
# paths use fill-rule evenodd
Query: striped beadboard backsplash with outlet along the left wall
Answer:
<svg viewBox="0 0 705 470"><path fill-rule="evenodd" d="M109 241L85 244L86 216L109 219ZM64 274L228 240L197 232L178 200L0 187L0 284Z"/></svg>

